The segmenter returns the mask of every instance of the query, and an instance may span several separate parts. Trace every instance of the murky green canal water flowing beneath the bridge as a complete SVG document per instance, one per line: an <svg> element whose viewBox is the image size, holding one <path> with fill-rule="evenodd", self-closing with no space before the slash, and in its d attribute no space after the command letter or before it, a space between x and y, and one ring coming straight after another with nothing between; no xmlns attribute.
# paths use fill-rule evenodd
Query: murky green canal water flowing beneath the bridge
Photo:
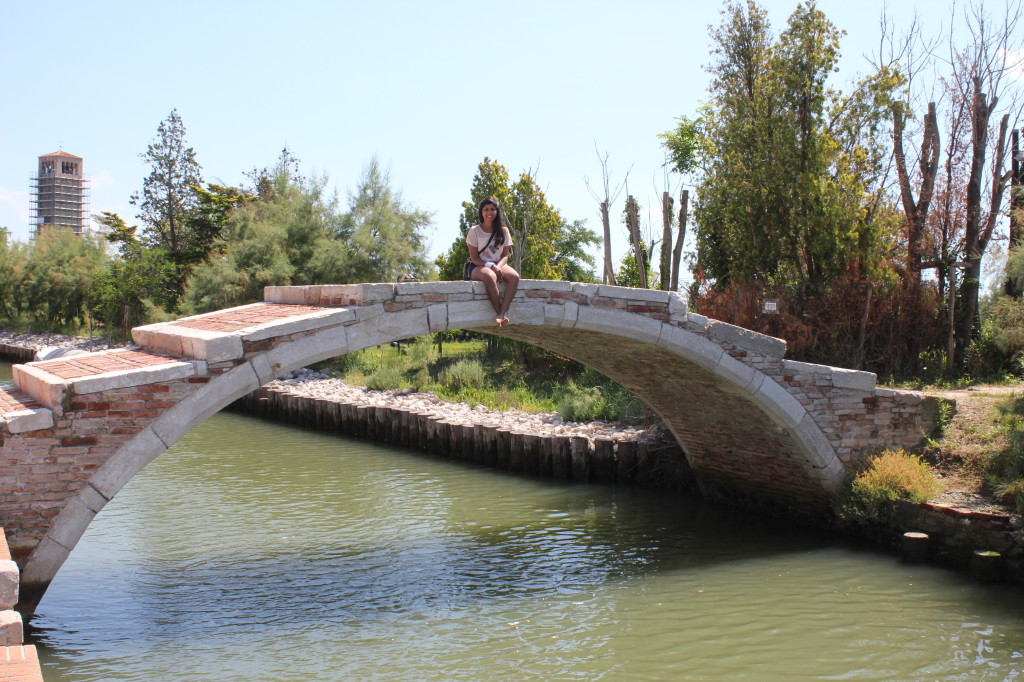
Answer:
<svg viewBox="0 0 1024 682"><path fill-rule="evenodd" d="M699 501L226 413L97 516L31 638L51 682L1005 680L1022 606Z"/></svg>

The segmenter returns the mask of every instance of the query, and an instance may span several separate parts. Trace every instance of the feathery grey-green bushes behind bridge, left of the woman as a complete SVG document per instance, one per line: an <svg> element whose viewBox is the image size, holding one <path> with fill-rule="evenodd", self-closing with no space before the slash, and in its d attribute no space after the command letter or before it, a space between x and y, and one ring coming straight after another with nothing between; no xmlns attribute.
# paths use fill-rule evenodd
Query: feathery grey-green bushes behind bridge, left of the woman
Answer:
<svg viewBox="0 0 1024 682"><path fill-rule="evenodd" d="M391 282L410 271L433 276L424 236L430 216L401 202L376 159L348 211L327 191L327 177L299 175L290 156L258 181L261 199L233 207L216 255L188 280L187 310L262 300L267 286Z"/></svg>

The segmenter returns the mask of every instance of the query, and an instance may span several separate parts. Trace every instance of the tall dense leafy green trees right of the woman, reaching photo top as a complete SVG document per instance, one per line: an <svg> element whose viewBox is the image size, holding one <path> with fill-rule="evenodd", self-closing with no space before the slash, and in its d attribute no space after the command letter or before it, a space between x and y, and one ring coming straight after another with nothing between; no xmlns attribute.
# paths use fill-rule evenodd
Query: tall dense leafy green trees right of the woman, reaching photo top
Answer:
<svg viewBox="0 0 1024 682"><path fill-rule="evenodd" d="M881 191L890 74L851 96L826 87L840 32L813 1L773 40L767 13L729 2L713 32L700 114L705 176L694 206L697 262L717 286L757 274L821 287L869 270L892 228Z"/></svg>

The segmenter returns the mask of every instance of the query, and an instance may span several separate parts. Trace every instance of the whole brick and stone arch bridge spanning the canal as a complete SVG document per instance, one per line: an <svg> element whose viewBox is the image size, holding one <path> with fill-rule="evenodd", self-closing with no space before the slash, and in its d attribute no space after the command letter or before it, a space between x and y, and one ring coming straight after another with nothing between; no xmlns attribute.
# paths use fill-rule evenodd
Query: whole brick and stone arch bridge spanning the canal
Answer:
<svg viewBox="0 0 1024 682"><path fill-rule="evenodd" d="M919 393L783 359L785 342L687 311L676 293L523 281L497 328L481 283L269 287L263 303L132 330L137 346L14 366L0 386L0 525L31 613L90 521L185 432L282 375L476 329L572 357L655 410L712 499L820 518L859 458L916 443Z"/></svg>

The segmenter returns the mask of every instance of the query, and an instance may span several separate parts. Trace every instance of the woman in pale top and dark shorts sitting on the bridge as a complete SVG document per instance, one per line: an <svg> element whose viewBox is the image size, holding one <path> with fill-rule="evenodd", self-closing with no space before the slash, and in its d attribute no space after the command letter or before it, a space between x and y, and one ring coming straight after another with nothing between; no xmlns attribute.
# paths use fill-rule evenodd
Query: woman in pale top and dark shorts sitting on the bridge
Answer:
<svg viewBox="0 0 1024 682"><path fill-rule="evenodd" d="M509 324L509 305L519 286L519 273L508 264L512 235L494 197L480 202L477 215L480 224L473 225L466 233L469 259L476 266L470 279L482 282L486 287L487 298L495 308L495 323L504 327ZM505 284L504 296L498 290L498 285L502 283Z"/></svg>

